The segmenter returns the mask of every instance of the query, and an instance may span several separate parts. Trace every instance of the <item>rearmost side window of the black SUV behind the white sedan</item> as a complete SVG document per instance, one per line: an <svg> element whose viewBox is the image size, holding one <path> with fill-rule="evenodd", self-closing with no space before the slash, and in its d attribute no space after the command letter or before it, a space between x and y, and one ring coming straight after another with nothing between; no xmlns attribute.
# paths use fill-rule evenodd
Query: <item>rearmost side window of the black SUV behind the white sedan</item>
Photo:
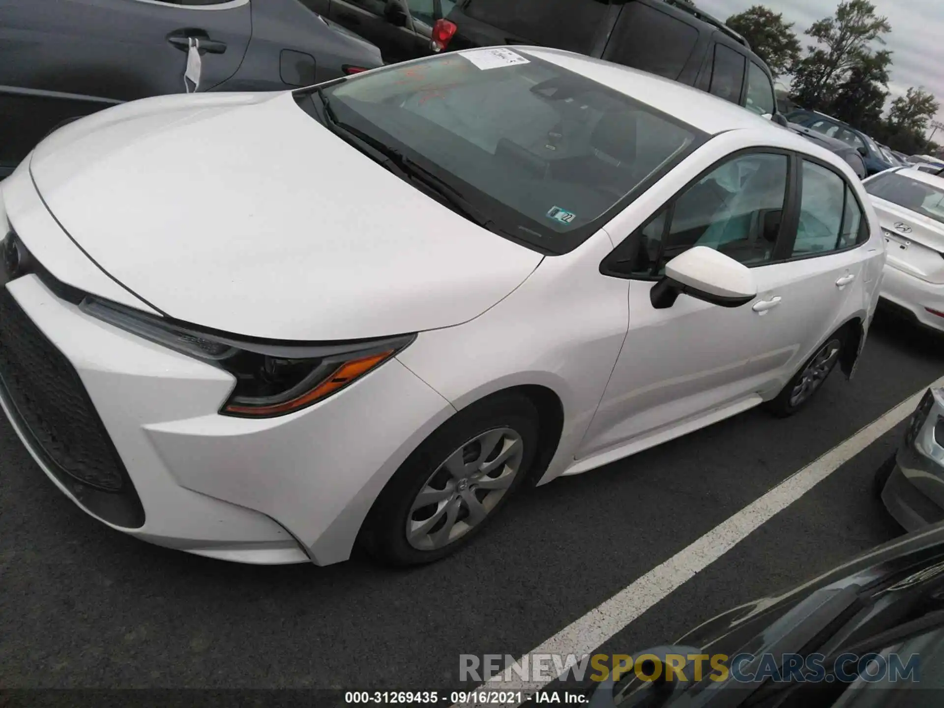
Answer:
<svg viewBox="0 0 944 708"><path fill-rule="evenodd" d="M603 59L674 80L698 41L695 27L648 5L630 3L619 13Z"/></svg>

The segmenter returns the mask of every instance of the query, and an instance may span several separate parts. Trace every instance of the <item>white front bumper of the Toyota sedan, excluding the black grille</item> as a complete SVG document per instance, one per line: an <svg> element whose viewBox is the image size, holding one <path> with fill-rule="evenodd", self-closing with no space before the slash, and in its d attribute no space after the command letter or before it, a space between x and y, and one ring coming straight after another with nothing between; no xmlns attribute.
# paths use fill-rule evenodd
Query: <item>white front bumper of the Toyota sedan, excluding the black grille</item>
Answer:
<svg viewBox="0 0 944 708"><path fill-rule="evenodd" d="M75 368L140 497L143 523L112 523L83 503L5 405L14 428L83 510L161 546L244 563L345 560L383 485L453 413L394 359L298 413L222 416L228 373L80 312L35 275L7 287Z"/></svg>

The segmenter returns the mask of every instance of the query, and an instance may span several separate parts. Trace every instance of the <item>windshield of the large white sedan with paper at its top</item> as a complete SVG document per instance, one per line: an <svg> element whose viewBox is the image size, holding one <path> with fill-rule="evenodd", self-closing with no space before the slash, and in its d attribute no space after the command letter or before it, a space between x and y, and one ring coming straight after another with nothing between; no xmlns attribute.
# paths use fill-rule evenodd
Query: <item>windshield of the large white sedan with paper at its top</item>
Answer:
<svg viewBox="0 0 944 708"><path fill-rule="evenodd" d="M502 235L565 253L702 134L585 76L476 49L325 90L337 121L415 162Z"/></svg>

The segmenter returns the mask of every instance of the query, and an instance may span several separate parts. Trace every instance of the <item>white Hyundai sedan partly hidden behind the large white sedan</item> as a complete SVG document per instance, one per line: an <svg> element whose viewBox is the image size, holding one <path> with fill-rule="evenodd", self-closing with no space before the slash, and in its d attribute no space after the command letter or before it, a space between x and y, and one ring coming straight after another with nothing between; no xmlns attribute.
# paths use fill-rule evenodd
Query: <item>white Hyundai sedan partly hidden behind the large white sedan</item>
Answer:
<svg viewBox="0 0 944 708"><path fill-rule="evenodd" d="M887 244L882 298L944 331L944 177L912 167L886 170L864 186Z"/></svg>

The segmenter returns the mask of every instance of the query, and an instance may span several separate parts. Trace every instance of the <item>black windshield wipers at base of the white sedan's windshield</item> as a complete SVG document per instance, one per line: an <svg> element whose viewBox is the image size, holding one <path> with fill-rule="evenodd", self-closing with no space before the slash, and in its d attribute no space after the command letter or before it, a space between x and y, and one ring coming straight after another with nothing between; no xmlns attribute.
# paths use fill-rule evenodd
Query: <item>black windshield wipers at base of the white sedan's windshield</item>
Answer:
<svg viewBox="0 0 944 708"><path fill-rule="evenodd" d="M374 160L377 160L381 165L395 173L397 177L405 181L419 182L430 190L430 192L436 194L452 211L456 211L474 224L478 224L481 228L487 228L490 231L495 231L505 236L512 236L512 234L498 228L492 219L486 218L478 209L472 206L462 193L456 190L455 187L442 177L434 175L425 167L410 160L410 158L399 150L396 150L396 148L379 141L377 138L368 135L354 126L349 126L339 121L334 109L331 108L329 97L321 90L321 87L315 89L314 93L321 99L321 105L324 108L326 118L331 124L331 129L335 132L346 133L348 142L355 143L362 152L371 155ZM364 147L369 149L364 149Z"/></svg>

